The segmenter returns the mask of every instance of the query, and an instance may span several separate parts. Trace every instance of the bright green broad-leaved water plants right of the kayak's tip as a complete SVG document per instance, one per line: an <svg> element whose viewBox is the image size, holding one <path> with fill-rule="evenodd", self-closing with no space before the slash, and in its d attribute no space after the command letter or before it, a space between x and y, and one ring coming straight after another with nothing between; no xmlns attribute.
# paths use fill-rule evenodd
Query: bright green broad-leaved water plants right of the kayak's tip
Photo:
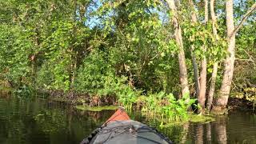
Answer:
<svg viewBox="0 0 256 144"><path fill-rule="evenodd" d="M190 99L189 96L176 100L174 94L165 94L163 91L142 98L145 99L142 103L142 112L168 122L187 121L188 109L196 101L196 99Z"/></svg>

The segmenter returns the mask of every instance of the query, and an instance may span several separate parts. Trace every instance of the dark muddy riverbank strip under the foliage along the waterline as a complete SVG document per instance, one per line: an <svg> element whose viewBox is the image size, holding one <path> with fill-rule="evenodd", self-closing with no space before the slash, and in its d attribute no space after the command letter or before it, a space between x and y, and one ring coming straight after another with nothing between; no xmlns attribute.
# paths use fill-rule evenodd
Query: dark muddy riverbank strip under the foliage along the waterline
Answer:
<svg viewBox="0 0 256 144"><path fill-rule="evenodd" d="M0 86L0 90L11 94L14 90L7 86ZM91 96L88 93L78 93L77 91L70 90L34 90L36 95L43 96L45 98L50 98L52 101L65 102L73 106L86 105L86 106L118 106L118 99L114 96L101 97L98 95ZM135 103L136 109L142 109L142 104L145 101L146 96L138 98L138 102ZM235 112L237 110L251 111L256 114L255 102L249 101L246 97L230 97L228 101L228 112Z"/></svg>

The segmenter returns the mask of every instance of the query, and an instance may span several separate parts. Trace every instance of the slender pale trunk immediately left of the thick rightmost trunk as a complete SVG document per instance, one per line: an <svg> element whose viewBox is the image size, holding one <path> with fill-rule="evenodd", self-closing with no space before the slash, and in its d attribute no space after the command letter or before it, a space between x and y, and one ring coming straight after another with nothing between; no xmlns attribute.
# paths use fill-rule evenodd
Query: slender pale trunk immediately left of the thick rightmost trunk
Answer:
<svg viewBox="0 0 256 144"><path fill-rule="evenodd" d="M213 23L214 38L216 38L216 36L217 36L217 29L216 29L217 20L216 20L216 16L215 16L215 12L214 12L214 0L210 0L210 16L211 16L211 20ZM213 104L217 72L218 72L218 62L214 62L214 68L213 68L213 72L211 74L210 89L209 89L209 94L208 94L207 104L206 104L207 110L210 110L210 108Z"/></svg>

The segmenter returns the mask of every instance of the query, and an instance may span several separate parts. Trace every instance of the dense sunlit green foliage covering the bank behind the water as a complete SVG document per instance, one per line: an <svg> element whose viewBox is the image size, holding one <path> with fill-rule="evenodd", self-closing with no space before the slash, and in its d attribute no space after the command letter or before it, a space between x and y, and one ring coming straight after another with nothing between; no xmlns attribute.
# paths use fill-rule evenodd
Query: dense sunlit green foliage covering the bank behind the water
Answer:
<svg viewBox="0 0 256 144"><path fill-rule="evenodd" d="M198 61L202 56L209 61L209 79L213 63L221 63L216 83L219 87L222 60L226 58L226 20L223 3L217 1L215 38L211 22L191 23L190 7L181 2L179 19L190 95L194 96L190 46L195 46L192 51ZM250 3L235 3L237 19L244 13L238 6L246 9ZM143 110L160 112L167 118L174 118L170 113L180 113L181 118L175 119L187 118L182 114L194 100L174 98L180 95L178 46L166 2L6 0L0 6L1 82L17 90L72 90L90 97L114 96L128 108L145 97ZM202 3L195 2L195 6L201 21ZM245 25L237 34L235 90L256 84L254 17Z"/></svg>

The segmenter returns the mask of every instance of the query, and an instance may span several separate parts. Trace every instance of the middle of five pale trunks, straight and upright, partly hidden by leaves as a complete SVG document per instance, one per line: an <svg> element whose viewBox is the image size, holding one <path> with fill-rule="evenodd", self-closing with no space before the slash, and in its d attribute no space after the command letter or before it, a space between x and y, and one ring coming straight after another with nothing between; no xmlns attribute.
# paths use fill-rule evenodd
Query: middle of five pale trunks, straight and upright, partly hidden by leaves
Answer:
<svg viewBox="0 0 256 144"><path fill-rule="evenodd" d="M208 22L208 0L205 0L205 23ZM206 46L202 46L204 53L206 53ZM206 104L206 74L207 74L207 62L206 55L203 54L201 62L201 72L200 72L200 91L198 96L198 102L202 107L202 110L205 108Z"/></svg>

